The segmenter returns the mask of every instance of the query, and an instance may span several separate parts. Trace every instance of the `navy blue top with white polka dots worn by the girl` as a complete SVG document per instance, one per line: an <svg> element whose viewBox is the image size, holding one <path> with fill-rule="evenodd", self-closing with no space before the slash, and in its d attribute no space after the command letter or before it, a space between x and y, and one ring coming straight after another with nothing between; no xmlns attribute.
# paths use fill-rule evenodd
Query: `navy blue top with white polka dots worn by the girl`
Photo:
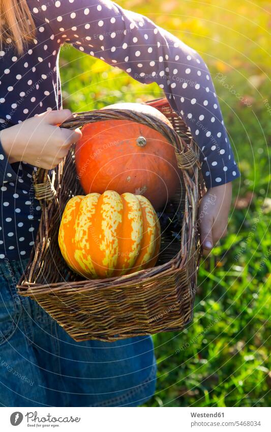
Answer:
<svg viewBox="0 0 271 432"><path fill-rule="evenodd" d="M58 53L69 43L163 89L202 151L208 188L239 176L212 79L195 50L109 0L27 3L37 27L33 42L20 56L10 39L0 48L0 131L62 107ZM25 258L34 244L41 208L34 197L33 169L24 161L10 164L0 142L0 260Z"/></svg>

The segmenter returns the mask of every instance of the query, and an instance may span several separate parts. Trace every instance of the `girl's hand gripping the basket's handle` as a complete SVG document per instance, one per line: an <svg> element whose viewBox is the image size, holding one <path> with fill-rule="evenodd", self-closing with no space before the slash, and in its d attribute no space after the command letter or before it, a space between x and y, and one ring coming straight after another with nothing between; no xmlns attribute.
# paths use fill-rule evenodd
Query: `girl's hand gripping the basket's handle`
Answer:
<svg viewBox="0 0 271 432"><path fill-rule="evenodd" d="M2 130L0 139L9 162L23 160L41 168L54 168L82 136L79 129L57 126L72 117L69 109L46 111Z"/></svg>

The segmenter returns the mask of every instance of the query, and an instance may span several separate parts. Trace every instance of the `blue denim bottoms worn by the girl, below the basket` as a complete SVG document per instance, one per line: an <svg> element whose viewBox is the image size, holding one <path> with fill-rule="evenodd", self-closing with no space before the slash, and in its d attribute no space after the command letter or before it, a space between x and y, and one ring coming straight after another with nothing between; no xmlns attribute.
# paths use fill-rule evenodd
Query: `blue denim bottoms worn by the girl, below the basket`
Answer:
<svg viewBox="0 0 271 432"><path fill-rule="evenodd" d="M18 296L27 260L0 265L0 406L136 407L155 391L152 339L75 342Z"/></svg>

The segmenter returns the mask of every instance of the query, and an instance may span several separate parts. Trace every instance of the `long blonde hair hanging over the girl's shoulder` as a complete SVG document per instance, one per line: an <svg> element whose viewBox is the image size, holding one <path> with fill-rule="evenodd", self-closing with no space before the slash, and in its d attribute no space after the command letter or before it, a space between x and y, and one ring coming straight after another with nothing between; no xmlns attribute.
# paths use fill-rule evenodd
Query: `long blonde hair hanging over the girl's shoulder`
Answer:
<svg viewBox="0 0 271 432"><path fill-rule="evenodd" d="M12 43L21 54L35 33L35 24L26 0L0 0L1 46Z"/></svg>

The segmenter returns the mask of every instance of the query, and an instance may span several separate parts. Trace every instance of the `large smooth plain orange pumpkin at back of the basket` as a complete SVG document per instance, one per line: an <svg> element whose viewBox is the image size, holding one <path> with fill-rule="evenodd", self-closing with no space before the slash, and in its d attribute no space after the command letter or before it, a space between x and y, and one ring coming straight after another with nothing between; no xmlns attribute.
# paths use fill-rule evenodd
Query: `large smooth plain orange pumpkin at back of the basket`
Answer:
<svg viewBox="0 0 271 432"><path fill-rule="evenodd" d="M130 109L151 114L172 128L156 108L140 103L120 103L105 108ZM75 161L85 193L115 190L146 196L161 208L179 184L173 145L156 130L130 120L104 120L82 128Z"/></svg>

